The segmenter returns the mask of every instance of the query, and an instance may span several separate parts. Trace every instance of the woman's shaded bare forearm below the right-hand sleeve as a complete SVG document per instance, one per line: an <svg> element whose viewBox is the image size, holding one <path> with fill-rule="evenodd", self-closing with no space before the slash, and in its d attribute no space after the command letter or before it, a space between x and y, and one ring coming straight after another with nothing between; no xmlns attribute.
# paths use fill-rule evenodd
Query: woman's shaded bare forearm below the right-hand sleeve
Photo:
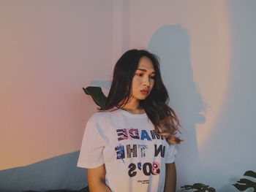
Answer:
<svg viewBox="0 0 256 192"><path fill-rule="evenodd" d="M176 166L175 163L165 164L165 189L164 192L176 190Z"/></svg>

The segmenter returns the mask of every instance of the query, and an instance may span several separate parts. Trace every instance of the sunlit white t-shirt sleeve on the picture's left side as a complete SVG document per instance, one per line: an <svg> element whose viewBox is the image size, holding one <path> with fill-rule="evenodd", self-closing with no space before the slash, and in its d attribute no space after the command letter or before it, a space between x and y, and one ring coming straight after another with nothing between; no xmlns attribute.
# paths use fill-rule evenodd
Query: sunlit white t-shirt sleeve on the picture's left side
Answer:
<svg viewBox="0 0 256 192"><path fill-rule="evenodd" d="M104 139L100 136L101 128L94 116L86 123L83 141L78 158L78 167L96 168L104 164L103 149Z"/></svg>

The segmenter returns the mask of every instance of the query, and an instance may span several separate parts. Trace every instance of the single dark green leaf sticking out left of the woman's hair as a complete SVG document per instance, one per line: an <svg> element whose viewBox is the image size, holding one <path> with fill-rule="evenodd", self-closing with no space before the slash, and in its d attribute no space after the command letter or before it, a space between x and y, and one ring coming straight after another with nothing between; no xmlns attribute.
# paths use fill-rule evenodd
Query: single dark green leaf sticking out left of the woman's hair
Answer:
<svg viewBox="0 0 256 192"><path fill-rule="evenodd" d="M89 86L87 88L83 88L83 91L87 95L91 96L91 98L94 99L94 102L99 107L104 107L105 106L105 101L106 101L107 97L102 92L102 88Z"/></svg>

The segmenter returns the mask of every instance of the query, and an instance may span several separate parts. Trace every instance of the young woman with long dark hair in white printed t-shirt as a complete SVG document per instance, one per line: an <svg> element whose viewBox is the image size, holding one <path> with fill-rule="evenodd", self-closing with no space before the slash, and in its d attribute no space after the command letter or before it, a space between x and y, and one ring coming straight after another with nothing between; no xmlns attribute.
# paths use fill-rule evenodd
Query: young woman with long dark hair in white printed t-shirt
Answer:
<svg viewBox="0 0 256 192"><path fill-rule="evenodd" d="M91 192L173 192L175 137L180 126L167 105L157 56L128 50L116 63L105 107L86 124L78 166Z"/></svg>

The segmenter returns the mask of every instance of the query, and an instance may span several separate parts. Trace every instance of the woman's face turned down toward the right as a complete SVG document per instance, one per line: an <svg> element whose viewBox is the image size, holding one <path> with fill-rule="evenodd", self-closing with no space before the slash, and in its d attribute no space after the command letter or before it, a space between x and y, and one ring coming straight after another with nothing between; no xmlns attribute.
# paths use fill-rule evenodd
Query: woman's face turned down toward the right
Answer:
<svg viewBox="0 0 256 192"><path fill-rule="evenodd" d="M154 86L154 76L155 71L151 59L146 56L141 57L132 78L132 99L146 99Z"/></svg>

